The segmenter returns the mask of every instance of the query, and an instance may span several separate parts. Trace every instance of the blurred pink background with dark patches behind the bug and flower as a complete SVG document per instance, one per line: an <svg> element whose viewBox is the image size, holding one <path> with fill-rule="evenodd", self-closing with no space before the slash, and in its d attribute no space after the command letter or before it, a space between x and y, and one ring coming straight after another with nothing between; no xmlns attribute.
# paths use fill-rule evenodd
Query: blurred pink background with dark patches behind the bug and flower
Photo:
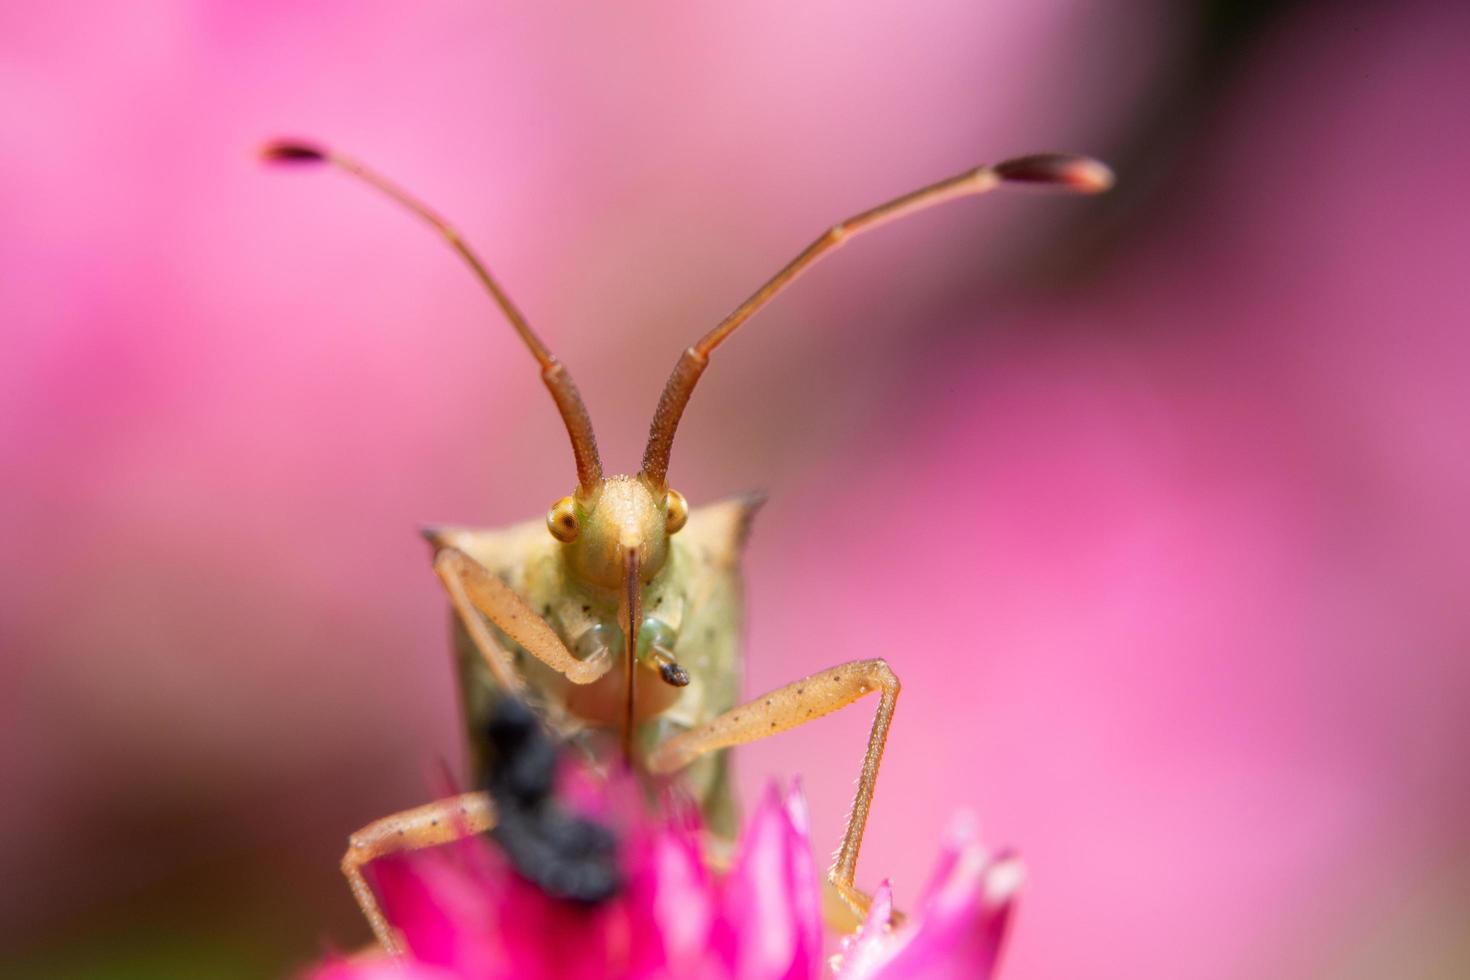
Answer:
<svg viewBox="0 0 1470 980"><path fill-rule="evenodd" d="M572 485L450 215L631 469L817 231L976 162L722 348L673 480L770 491L751 693L904 679L860 879L950 815L1004 974L1470 971L1470 16L1452 4L0 6L0 971L270 976L460 754L415 529ZM744 752L835 845L869 708Z"/></svg>

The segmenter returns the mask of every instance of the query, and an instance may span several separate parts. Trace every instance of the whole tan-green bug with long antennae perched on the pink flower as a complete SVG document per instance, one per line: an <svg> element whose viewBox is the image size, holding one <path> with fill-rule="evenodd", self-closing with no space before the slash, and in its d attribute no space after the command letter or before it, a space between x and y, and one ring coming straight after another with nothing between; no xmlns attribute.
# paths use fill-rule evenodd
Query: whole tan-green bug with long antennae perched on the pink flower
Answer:
<svg viewBox="0 0 1470 980"><path fill-rule="evenodd" d="M476 253L442 217L357 160L307 143L269 144L268 160L328 163L365 181L435 228L469 264L531 351L566 425L576 488L544 520L495 530L425 532L434 572L456 616L456 660L466 721L485 720L504 695L525 698L557 733L607 752L614 742L635 771L681 774L716 835L734 833L726 749L804 724L869 693L879 702L857 795L828 880L856 914L863 829L898 677L882 660L858 660L739 702L739 563L756 498L689 508L669 485L673 436L710 354L813 263L848 238L942 201L1004 185L1100 192L1102 163L1035 154L980 166L833 225L686 348L659 398L642 466L603 472L592 422L566 367L531 329ZM481 768L484 760L476 760ZM494 823L484 793L428 804L353 835L343 870L379 942L397 949L362 868L390 852L442 843Z"/></svg>

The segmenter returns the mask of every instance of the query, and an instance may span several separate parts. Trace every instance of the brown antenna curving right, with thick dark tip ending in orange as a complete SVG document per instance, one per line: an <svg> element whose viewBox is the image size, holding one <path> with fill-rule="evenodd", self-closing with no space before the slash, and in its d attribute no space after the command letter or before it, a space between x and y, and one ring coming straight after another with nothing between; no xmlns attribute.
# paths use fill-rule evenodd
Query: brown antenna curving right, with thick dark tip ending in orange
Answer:
<svg viewBox="0 0 1470 980"><path fill-rule="evenodd" d="M791 285L817 259L860 232L957 197L985 194L1003 184L1030 184L1080 194L1097 194L1113 185L1113 172L1108 170L1107 165L1091 157L1063 153L1016 157L992 166L966 170L947 181L919 188L886 204L879 204L860 215L854 215L839 225L833 225L807 245L801 254L786 263L766 285L756 289L748 300L735 307L735 311L720 320L713 331L701 336L694 347L684 351L679 361L673 366L673 373L669 375L663 394L659 397L659 407L654 410L653 425L648 428L648 445L644 450L642 460L644 478L654 486L667 486L673 433L679 428L684 407L689 403L689 395L694 394L694 386L698 383L700 375L709 366L710 351L723 344L741 323L770 303L778 292Z"/></svg>

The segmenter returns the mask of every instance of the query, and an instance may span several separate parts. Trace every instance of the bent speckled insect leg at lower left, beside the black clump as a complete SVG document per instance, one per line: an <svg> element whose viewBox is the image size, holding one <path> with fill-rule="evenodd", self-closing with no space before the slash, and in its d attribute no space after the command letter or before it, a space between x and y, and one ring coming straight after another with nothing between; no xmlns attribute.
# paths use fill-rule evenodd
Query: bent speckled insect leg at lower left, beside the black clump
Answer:
<svg viewBox="0 0 1470 980"><path fill-rule="evenodd" d="M363 879L363 867L390 854L419 851L484 833L494 823L495 814L488 795L462 793L375 820L347 839L343 874L384 949L394 955L403 952L398 936L378 907L378 896Z"/></svg>

